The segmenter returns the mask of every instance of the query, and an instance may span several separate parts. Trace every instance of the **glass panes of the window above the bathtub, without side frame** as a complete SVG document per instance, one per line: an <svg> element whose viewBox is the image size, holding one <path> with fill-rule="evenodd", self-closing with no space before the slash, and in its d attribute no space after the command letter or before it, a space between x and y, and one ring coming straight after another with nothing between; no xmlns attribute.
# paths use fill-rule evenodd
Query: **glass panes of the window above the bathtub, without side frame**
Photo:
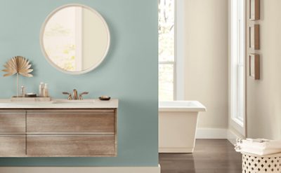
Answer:
<svg viewBox="0 0 281 173"><path fill-rule="evenodd" d="M175 0L159 0L159 101L175 99Z"/></svg>

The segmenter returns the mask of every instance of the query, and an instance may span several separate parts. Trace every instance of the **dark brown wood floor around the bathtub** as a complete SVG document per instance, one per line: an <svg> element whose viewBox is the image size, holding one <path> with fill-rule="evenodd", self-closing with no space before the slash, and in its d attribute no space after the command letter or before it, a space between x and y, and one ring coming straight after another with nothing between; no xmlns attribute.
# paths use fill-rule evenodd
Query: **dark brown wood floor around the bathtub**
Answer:
<svg viewBox="0 0 281 173"><path fill-rule="evenodd" d="M241 173L242 156L226 139L197 139L192 154L160 153L162 173Z"/></svg>

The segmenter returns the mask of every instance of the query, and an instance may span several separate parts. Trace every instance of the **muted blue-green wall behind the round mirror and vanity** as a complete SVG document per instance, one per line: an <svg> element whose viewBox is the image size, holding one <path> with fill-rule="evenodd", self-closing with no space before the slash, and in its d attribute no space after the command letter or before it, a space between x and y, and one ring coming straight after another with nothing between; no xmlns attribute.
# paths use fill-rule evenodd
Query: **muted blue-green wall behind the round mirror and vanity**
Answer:
<svg viewBox="0 0 281 173"><path fill-rule="evenodd" d="M112 44L103 64L89 74L70 76L51 67L41 53L39 32L58 6L85 4L103 15ZM15 55L27 57L33 78L20 77L28 92L49 84L53 97L77 88L88 98L119 99L117 158L0 158L1 166L158 165L157 0L1 0L0 68ZM0 73L1 75L4 73ZM15 76L0 77L0 97L15 95Z"/></svg>

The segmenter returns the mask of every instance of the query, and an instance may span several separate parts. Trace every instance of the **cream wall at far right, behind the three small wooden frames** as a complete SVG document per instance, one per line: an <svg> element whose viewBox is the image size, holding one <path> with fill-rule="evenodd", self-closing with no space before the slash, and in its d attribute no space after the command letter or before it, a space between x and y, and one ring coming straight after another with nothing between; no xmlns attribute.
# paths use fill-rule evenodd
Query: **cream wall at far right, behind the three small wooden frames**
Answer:
<svg viewBox="0 0 281 173"><path fill-rule="evenodd" d="M261 80L247 71L248 137L281 139L281 1L261 0ZM249 58L247 58L249 62ZM249 64L248 64L249 66Z"/></svg>

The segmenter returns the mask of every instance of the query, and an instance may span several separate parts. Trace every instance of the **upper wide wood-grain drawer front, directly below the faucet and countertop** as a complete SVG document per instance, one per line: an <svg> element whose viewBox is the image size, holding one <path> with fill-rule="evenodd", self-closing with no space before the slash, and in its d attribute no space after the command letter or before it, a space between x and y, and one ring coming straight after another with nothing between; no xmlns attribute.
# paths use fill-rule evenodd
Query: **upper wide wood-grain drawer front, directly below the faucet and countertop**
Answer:
<svg viewBox="0 0 281 173"><path fill-rule="evenodd" d="M115 111L27 111L27 132L115 132Z"/></svg>

